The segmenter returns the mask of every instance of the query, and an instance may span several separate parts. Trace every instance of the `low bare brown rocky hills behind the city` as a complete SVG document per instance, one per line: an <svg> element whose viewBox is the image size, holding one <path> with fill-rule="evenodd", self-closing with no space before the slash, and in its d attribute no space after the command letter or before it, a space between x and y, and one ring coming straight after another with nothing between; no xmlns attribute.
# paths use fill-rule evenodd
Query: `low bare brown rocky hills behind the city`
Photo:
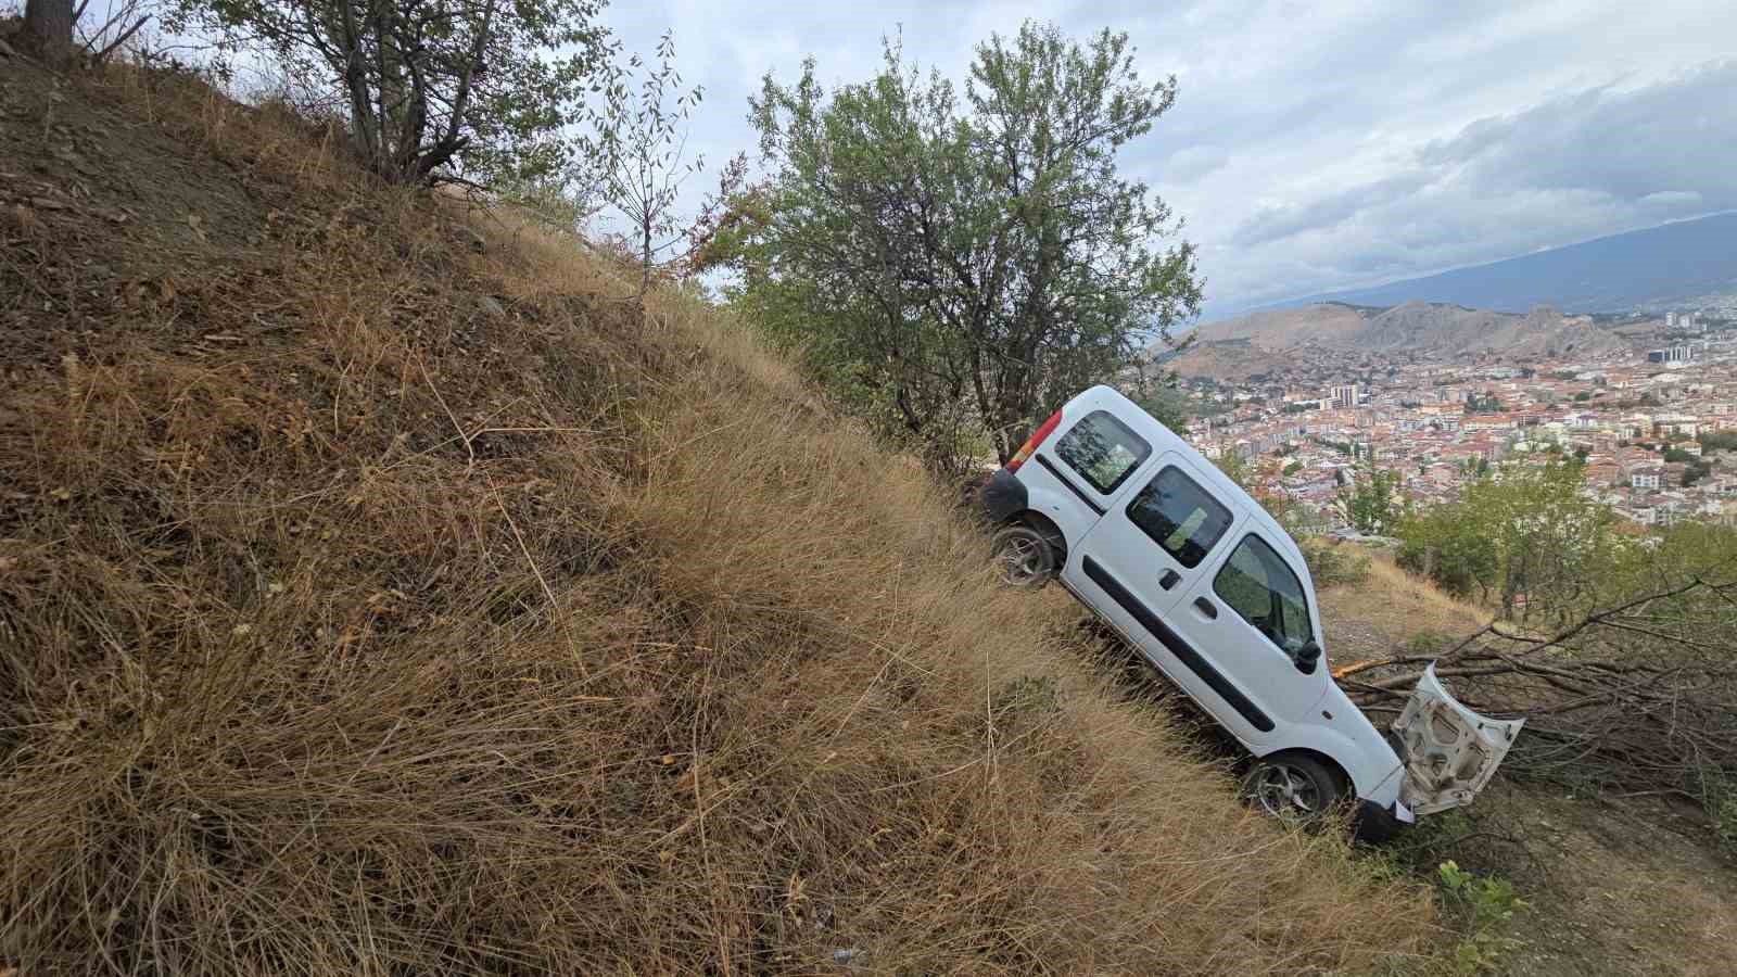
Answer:
<svg viewBox="0 0 1737 977"><path fill-rule="evenodd" d="M1593 316L1562 315L1549 306L1515 315L1445 302L1395 308L1322 302L1205 323L1169 365L1183 376L1238 381L1369 353L1527 362L1624 348L1628 342Z"/></svg>

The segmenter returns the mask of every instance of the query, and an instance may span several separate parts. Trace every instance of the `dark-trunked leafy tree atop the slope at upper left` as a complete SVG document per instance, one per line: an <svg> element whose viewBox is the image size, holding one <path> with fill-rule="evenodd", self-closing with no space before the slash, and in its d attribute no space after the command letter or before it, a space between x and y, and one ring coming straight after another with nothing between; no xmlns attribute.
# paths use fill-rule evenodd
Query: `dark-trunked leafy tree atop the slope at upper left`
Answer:
<svg viewBox="0 0 1737 977"><path fill-rule="evenodd" d="M608 31L601 0L174 0L172 30L280 61L337 96L356 155L394 183L559 174Z"/></svg>

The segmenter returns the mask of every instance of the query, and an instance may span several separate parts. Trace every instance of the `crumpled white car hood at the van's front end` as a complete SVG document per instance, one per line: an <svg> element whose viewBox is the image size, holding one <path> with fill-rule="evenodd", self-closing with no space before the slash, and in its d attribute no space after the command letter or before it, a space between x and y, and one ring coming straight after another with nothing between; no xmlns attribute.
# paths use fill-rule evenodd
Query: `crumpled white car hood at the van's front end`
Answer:
<svg viewBox="0 0 1737 977"><path fill-rule="evenodd" d="M1464 807L1496 774L1525 720L1489 720L1442 688L1424 669L1405 711L1393 723L1405 784L1400 800L1416 814Z"/></svg>

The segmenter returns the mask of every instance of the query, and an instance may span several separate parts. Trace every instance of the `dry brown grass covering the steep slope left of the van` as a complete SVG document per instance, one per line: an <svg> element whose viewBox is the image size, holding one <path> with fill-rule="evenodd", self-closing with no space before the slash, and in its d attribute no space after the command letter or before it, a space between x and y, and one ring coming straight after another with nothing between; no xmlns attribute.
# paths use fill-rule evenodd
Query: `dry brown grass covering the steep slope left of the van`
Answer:
<svg viewBox="0 0 1737 977"><path fill-rule="evenodd" d="M641 344L571 243L471 254L292 120L97 85L294 207L12 367L0 970L1426 953L1426 894L1240 808L726 316L664 292Z"/></svg>

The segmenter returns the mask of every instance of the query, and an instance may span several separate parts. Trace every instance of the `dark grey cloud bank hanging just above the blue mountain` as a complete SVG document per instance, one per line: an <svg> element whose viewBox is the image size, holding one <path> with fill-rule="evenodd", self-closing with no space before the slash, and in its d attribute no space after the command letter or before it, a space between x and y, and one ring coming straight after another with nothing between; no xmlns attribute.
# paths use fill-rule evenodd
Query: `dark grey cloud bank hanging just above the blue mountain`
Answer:
<svg viewBox="0 0 1737 977"><path fill-rule="evenodd" d="M1431 141L1398 174L1256 210L1226 238L1242 250L1211 311L1737 209L1737 167L1716 136L1737 132L1734 90L1727 61L1558 94Z"/></svg>

